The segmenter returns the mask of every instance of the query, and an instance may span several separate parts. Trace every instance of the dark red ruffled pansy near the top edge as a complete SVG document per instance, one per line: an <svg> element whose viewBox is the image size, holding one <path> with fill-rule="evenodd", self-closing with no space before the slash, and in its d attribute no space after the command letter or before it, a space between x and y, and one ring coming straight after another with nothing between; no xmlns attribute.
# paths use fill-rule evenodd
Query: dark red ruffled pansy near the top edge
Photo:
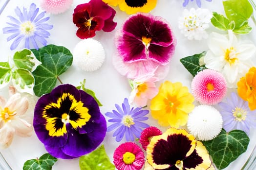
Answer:
<svg viewBox="0 0 256 170"><path fill-rule="evenodd" d="M95 36L95 31L113 31L117 25L113 21L115 14L116 11L102 0L77 5L73 13L73 22L78 27L76 35L85 39Z"/></svg>

